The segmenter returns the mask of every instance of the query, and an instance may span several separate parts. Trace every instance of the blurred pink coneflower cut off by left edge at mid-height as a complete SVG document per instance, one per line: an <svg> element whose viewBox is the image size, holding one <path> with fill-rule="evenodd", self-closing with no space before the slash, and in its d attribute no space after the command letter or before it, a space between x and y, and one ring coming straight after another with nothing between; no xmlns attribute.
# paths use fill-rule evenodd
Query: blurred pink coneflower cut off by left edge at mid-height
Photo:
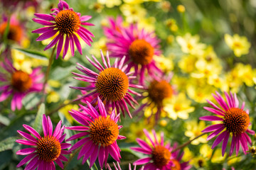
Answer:
<svg viewBox="0 0 256 170"><path fill-rule="evenodd" d="M9 74L0 72L0 81L3 82L0 86L0 102L12 95L12 111L15 111L16 108L18 110L22 108L22 99L27 94L42 91L43 83L41 83L41 80L43 79L43 74L41 73L41 68L33 69L32 73L28 74L15 69L8 59L5 59L4 63L0 63L0 66L6 72L9 72Z"/></svg>

